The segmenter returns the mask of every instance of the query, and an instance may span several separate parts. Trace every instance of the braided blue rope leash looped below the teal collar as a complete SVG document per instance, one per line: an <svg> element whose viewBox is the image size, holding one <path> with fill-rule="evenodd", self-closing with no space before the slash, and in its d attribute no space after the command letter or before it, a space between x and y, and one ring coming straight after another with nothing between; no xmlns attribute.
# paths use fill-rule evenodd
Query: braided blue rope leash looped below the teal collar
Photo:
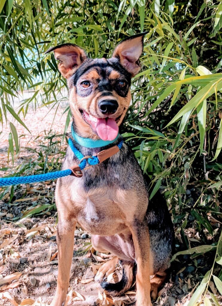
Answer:
<svg viewBox="0 0 222 306"><path fill-rule="evenodd" d="M73 151L73 153L76 155L76 157L81 160L85 156L77 150L77 148L73 145L72 140L69 138L68 140L69 145ZM117 144L119 149L122 148L123 140ZM84 159L78 166L81 170L83 170L86 167L86 163L88 162L89 165L97 165L99 163L99 159L97 156L90 156L88 159ZM60 170L60 171L54 171L44 174L36 174L36 175L29 175L29 176L23 176L23 177L3 177L0 178L0 186L10 186L10 185L17 185L17 184L27 184L27 183L37 183L41 181L50 181L55 180L59 177L64 177L72 174L71 169L67 170Z"/></svg>

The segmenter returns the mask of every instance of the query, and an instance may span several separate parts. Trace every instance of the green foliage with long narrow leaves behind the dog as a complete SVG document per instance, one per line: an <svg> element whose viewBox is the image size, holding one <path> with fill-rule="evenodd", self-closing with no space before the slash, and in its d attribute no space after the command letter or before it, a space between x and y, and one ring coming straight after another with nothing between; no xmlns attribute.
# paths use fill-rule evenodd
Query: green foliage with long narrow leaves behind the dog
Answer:
<svg viewBox="0 0 222 306"><path fill-rule="evenodd" d="M222 4L216 0L7 0L0 4L0 122L7 121L10 113L24 125L21 117L31 105L56 107L60 102L58 93L66 83L53 55L44 54L49 47L76 43L91 57L106 57L122 38L148 31L143 69L133 80L133 102L123 136L152 180L150 196L161 186L184 246L190 246L185 231L191 219L203 246L210 248L203 252L217 250L192 305L207 292L214 265L221 264L220 230L212 221L221 214L221 12ZM35 93L15 112L13 101L26 89ZM70 122L66 111L65 130ZM9 154L14 159L19 135L9 124ZM41 158L41 169L47 171L45 156ZM216 241L217 247L212 246ZM194 249L201 253L195 245ZM190 250L182 252L190 254ZM216 276L213 279L220 292L220 282ZM216 304L212 296L211 300ZM205 297L204 303L211 302Z"/></svg>

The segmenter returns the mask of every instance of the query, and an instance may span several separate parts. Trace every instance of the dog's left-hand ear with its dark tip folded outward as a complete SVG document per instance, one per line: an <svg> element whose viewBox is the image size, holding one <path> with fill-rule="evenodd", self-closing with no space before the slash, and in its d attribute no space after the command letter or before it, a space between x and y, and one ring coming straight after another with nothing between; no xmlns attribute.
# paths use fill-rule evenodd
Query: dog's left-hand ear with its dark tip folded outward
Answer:
<svg viewBox="0 0 222 306"><path fill-rule="evenodd" d="M55 59L59 60L58 70L68 79L87 59L85 51L72 43L64 43L48 49L45 53L54 51Z"/></svg>

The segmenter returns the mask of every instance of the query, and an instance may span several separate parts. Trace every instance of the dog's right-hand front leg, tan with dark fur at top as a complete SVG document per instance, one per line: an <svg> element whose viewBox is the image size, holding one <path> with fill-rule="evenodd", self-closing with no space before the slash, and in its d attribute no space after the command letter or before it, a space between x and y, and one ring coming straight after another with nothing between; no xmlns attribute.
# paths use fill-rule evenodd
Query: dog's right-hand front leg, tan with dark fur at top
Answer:
<svg viewBox="0 0 222 306"><path fill-rule="evenodd" d="M152 306L150 298L150 246L146 222L134 221L131 232L137 262L136 306Z"/></svg>

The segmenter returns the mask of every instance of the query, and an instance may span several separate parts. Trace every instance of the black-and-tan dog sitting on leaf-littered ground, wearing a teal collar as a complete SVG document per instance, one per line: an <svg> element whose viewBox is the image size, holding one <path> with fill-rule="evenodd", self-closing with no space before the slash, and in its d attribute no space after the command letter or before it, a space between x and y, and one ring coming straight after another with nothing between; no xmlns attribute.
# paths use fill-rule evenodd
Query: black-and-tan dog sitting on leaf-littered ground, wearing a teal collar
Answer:
<svg viewBox="0 0 222 306"><path fill-rule="evenodd" d="M145 34L124 39L109 59L90 59L71 43L46 52L54 51L59 60L73 117L62 169L80 162L72 146L88 163L103 155L100 163L83 172L74 166L73 176L59 178L56 183L58 280L51 306L65 304L77 222L91 234L96 250L114 256L95 277L111 295L130 289L136 273L136 306L151 306L151 297L156 298L166 278L174 237L167 205L160 194L148 200L147 180L119 135L131 101L131 78L141 68ZM122 279L116 284L103 281L119 259Z"/></svg>

